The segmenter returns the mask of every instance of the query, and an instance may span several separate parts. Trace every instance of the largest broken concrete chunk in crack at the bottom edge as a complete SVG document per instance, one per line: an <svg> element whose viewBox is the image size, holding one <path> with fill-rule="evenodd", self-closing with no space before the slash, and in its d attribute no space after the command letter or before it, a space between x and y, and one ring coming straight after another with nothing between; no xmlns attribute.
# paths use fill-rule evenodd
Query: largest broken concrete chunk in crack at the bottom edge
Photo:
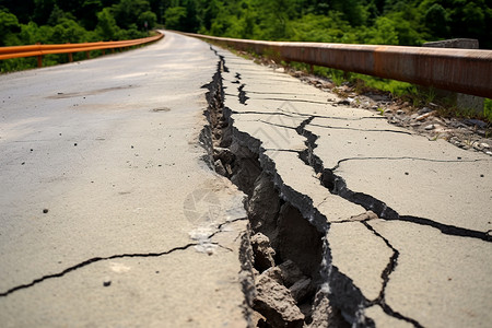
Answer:
<svg viewBox="0 0 492 328"><path fill-rule="evenodd" d="M291 292L273 279L260 276L253 307L268 318L272 327L303 327L304 315L295 305Z"/></svg>

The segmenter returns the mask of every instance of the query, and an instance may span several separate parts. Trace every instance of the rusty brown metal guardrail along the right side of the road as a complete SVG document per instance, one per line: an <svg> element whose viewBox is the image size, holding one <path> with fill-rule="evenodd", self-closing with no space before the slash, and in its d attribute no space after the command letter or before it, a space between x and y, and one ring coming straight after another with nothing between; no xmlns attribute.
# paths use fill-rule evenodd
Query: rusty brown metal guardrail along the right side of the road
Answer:
<svg viewBox="0 0 492 328"><path fill-rule="evenodd" d="M492 50L244 40L187 34L284 61L324 66L492 98Z"/></svg>

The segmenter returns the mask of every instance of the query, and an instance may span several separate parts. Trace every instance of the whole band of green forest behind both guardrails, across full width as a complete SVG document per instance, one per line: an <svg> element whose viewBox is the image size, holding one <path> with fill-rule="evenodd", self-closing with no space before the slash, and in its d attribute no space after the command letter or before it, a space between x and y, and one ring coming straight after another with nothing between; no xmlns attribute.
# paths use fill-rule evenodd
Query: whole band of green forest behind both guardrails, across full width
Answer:
<svg viewBox="0 0 492 328"><path fill-rule="evenodd" d="M216 36L492 49L492 0L0 0L0 46L117 40L156 24ZM54 62L66 57L52 56ZM33 58L0 62L0 70Z"/></svg>

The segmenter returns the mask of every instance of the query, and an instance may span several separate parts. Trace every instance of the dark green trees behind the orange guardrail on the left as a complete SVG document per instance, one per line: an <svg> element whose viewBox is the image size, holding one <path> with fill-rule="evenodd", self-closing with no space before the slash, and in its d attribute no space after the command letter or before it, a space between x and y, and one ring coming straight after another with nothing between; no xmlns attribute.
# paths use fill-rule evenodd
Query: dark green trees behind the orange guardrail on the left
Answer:
<svg viewBox="0 0 492 328"><path fill-rule="evenodd" d="M0 0L0 46L139 38L156 22L147 0ZM75 59L83 56L77 54ZM68 60L63 55L46 57L45 65ZM36 58L2 60L0 71L35 62Z"/></svg>

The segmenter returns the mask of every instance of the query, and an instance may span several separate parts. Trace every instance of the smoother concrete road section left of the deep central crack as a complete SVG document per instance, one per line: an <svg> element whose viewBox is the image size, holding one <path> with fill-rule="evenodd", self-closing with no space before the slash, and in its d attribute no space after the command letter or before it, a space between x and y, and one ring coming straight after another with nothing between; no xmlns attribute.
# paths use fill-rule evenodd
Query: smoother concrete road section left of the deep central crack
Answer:
<svg viewBox="0 0 492 328"><path fill-rule="evenodd" d="M245 327L243 194L198 137L218 58L154 45L0 77L2 327Z"/></svg>

